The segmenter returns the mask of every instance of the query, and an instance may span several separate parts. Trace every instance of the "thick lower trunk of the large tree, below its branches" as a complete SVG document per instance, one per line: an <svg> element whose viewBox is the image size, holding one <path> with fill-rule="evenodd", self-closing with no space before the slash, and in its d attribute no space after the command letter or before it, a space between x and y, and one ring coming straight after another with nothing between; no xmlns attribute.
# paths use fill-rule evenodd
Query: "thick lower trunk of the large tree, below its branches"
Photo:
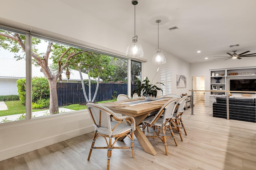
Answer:
<svg viewBox="0 0 256 170"><path fill-rule="evenodd" d="M54 79L48 79L50 86L50 114L59 113L57 82Z"/></svg>

